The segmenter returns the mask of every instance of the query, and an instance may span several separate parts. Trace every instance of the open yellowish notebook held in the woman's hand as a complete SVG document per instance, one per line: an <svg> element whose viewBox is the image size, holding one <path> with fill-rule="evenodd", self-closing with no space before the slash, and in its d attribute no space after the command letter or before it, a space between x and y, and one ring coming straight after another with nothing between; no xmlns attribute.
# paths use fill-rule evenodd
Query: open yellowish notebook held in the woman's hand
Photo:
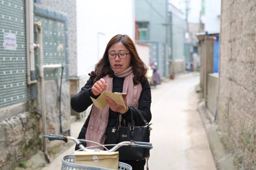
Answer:
<svg viewBox="0 0 256 170"><path fill-rule="evenodd" d="M121 106L124 106L124 108L126 108L126 106L124 104L124 99L122 97L122 94L120 94L120 93L113 93L113 92L105 91L105 92L102 92L102 94L100 94L100 96L97 99L94 99L92 97L90 97L90 98L92 99L94 106L103 110L108 104L108 100L106 97L111 98L116 104L119 104Z"/></svg>

